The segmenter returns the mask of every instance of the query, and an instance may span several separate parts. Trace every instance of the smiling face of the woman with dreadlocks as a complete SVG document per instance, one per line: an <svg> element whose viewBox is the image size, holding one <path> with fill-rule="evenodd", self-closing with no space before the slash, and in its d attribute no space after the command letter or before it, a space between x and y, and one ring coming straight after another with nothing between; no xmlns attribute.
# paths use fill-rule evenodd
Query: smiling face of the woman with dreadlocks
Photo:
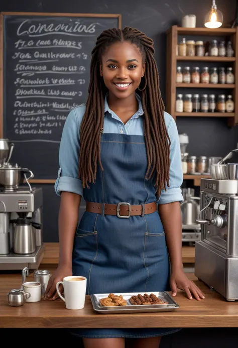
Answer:
<svg viewBox="0 0 238 348"><path fill-rule="evenodd" d="M109 46L101 58L100 74L109 93L128 98L139 87L145 63L138 47L128 41Z"/></svg>

